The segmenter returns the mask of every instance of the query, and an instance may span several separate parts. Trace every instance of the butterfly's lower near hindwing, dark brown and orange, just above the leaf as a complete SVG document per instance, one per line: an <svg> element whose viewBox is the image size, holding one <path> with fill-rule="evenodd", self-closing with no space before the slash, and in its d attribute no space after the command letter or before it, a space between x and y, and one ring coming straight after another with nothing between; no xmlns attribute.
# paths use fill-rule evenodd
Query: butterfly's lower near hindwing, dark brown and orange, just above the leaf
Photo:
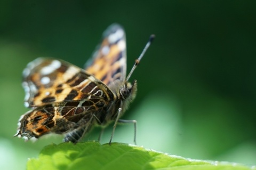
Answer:
<svg viewBox="0 0 256 170"><path fill-rule="evenodd" d="M94 124L93 115L102 111L93 104L75 106L76 102L47 105L35 108L22 115L18 132L14 136L23 137L25 141L37 139L48 133L65 134L65 141L76 143ZM68 139L66 139L68 136Z"/></svg>

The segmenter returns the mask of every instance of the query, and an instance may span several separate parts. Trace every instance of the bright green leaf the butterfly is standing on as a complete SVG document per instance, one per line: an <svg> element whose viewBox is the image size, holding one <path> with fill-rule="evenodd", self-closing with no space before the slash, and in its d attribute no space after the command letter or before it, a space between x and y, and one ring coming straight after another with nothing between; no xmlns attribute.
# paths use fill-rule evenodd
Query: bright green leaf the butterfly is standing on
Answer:
<svg viewBox="0 0 256 170"><path fill-rule="evenodd" d="M234 163L186 159L124 143L47 145L27 169L256 169Z"/></svg>

